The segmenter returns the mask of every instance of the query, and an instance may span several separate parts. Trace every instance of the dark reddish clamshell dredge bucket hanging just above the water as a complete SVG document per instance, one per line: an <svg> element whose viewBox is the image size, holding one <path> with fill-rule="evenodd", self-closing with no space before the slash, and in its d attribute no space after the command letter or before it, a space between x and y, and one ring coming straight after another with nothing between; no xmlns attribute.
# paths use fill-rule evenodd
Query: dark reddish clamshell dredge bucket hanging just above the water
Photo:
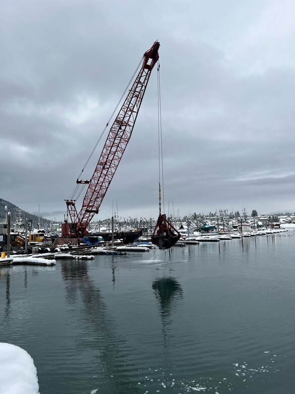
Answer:
<svg viewBox="0 0 295 394"><path fill-rule="evenodd" d="M152 243L159 249L171 248L181 237L181 234L169 223L166 215L159 215L153 235Z"/></svg>

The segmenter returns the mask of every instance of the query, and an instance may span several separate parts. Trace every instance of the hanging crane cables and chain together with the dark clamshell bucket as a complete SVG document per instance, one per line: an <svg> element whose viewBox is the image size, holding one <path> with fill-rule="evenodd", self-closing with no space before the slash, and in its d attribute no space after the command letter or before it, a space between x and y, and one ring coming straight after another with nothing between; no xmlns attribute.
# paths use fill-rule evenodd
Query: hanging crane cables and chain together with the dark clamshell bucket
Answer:
<svg viewBox="0 0 295 394"><path fill-rule="evenodd" d="M162 144L162 117L161 117L161 89L160 89L160 64L158 63L157 73L158 85L158 152L159 152L159 216L151 236L152 243L157 245L159 249L171 248L181 237L181 234L176 230L171 223L166 219L166 215L161 213L162 196L163 195L163 210L164 206L164 175L163 175L163 144ZM162 190L161 190L162 183Z"/></svg>

